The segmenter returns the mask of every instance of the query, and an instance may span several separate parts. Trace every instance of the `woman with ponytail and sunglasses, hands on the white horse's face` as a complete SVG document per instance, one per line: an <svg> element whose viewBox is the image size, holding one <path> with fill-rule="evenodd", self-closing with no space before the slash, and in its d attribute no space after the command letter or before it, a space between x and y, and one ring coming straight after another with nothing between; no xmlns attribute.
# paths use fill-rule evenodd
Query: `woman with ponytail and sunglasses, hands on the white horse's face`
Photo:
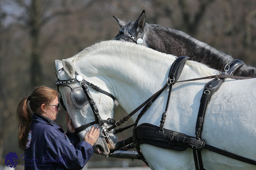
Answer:
<svg viewBox="0 0 256 170"><path fill-rule="evenodd" d="M18 143L25 151L21 157L25 169L82 169L92 156L98 127L92 127L80 141L68 113L67 133L54 122L59 110L58 92L45 86L35 88L20 101Z"/></svg>

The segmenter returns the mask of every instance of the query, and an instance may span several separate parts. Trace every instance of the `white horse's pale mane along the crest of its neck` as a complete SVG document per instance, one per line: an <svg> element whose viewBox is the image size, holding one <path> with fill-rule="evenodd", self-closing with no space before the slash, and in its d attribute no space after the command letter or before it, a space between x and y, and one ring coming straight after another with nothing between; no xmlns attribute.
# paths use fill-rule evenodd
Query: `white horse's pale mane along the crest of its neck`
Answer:
<svg viewBox="0 0 256 170"><path fill-rule="evenodd" d="M175 60L177 57L170 54L165 54L158 52L156 50L153 50L151 48L140 46L135 43L130 42L122 42L117 40L108 40L108 41L101 41L100 43L95 43L92 46L89 46L83 51L79 52L78 54L74 55L71 58L68 58L71 63L74 64L78 61L83 60L86 56L90 56L95 53L117 53L117 54L130 54L129 56L147 56L148 61L149 60L158 60L161 63L165 63L167 60ZM131 55L134 54L134 55ZM150 55L145 55L150 54ZM156 57L157 56L157 57ZM189 57L189 56L188 56ZM194 70L196 70L198 73L201 74L201 76L209 76L212 73L216 73L217 71L208 67L205 64L198 63L196 61L186 61L186 65L192 67Z"/></svg>

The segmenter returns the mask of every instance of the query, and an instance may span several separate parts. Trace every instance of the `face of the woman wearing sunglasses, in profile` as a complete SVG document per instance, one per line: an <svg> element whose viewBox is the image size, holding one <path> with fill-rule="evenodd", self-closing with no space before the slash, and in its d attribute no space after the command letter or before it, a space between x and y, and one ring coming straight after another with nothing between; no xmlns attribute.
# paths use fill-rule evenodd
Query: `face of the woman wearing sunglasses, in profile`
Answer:
<svg viewBox="0 0 256 170"><path fill-rule="evenodd" d="M49 105L48 107L45 107L45 111L42 115L48 117L52 121L55 121L58 115L58 111L60 108L57 109L57 105L59 104L58 97L56 96L55 99L52 101L52 103L48 103L46 105ZM55 106L51 106L55 105Z"/></svg>

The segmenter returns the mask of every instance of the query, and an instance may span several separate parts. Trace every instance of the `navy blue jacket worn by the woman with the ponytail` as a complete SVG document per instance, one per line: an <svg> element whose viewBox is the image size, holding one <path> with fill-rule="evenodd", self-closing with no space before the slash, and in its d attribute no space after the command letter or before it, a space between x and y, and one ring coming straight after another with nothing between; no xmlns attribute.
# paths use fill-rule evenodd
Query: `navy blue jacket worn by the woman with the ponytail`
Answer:
<svg viewBox="0 0 256 170"><path fill-rule="evenodd" d="M76 133L65 133L60 125L33 114L25 155L27 169L83 169L93 154L92 145L80 141Z"/></svg>

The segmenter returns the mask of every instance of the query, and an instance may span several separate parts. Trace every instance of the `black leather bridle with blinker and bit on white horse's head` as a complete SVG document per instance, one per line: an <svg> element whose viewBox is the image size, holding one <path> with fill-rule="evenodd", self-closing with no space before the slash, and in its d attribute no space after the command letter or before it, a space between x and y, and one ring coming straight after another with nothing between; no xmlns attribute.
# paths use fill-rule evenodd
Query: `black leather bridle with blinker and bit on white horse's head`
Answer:
<svg viewBox="0 0 256 170"><path fill-rule="evenodd" d="M57 73L61 70L64 70L64 68L59 69L57 71ZM58 79L57 74L56 74L56 76ZM79 132L85 130L89 126L92 126L94 124L99 124L102 128L100 131L100 134L103 137L105 137L105 139L109 145L114 147L114 144L109 137L110 133L114 133L114 132L112 130L108 130L108 127L105 126L104 123L113 125L113 124L115 124L115 120L111 119L111 118L108 118L107 120L102 120L101 116L99 115L98 108L92 99L92 95L90 94L89 88L87 85L89 85L89 87L94 88L95 90L111 97L113 100L115 100L115 97L112 94L108 93L107 91L102 90L98 86L96 86L90 82L87 82L85 79L83 79L83 76L81 76L80 74L78 74L76 72L75 72L75 76L76 76L75 79L70 79L70 80L59 80L58 79L58 81L56 81L56 86L58 86L58 91L59 91L59 86L69 87L71 89L70 98L73 101L74 105L78 108L82 108L86 103L89 103L92 108L95 119L96 119L95 121L92 121L88 124L84 124L84 125L81 125L80 127L75 128L76 132L79 133ZM79 82L81 86L72 89L69 86L69 84L76 83L76 82ZM77 95L79 95L79 96L77 97ZM82 100L81 100L81 98L82 98ZM62 100L62 97L60 98L60 103L61 103L61 106L67 111L67 109L64 105L64 102Z"/></svg>

